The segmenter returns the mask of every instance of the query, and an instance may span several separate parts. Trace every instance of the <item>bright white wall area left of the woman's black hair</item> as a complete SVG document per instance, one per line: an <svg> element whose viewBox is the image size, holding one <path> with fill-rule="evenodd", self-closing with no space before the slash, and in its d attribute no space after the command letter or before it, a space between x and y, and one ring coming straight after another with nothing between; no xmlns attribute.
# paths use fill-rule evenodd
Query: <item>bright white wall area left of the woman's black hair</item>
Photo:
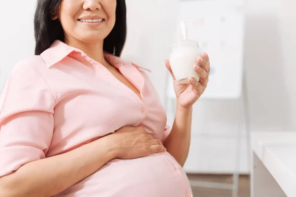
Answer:
<svg viewBox="0 0 296 197"><path fill-rule="evenodd" d="M34 55L37 0L2 0L0 18L0 91L15 63Z"/></svg>

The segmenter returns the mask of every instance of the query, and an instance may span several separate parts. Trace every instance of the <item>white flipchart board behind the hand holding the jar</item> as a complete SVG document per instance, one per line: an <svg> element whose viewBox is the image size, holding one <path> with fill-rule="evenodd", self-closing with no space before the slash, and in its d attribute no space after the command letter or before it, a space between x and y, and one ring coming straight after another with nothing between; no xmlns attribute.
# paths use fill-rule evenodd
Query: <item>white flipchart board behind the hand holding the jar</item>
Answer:
<svg viewBox="0 0 296 197"><path fill-rule="evenodd" d="M188 22L188 39L210 56L211 75L203 99L235 99L242 92L244 12L242 0L181 0L176 24ZM172 80L170 79L170 84ZM174 98L169 85L168 96Z"/></svg>

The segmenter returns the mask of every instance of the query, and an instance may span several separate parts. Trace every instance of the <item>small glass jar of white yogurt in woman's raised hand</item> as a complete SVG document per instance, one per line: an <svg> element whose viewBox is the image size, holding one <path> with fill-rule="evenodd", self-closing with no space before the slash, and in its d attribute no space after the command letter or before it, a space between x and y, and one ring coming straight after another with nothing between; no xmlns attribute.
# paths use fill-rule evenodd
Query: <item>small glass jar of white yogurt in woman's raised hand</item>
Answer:
<svg viewBox="0 0 296 197"><path fill-rule="evenodd" d="M182 40L172 45L170 65L178 83L188 84L188 77L199 80L198 74L193 69L199 56L201 51L195 40Z"/></svg>

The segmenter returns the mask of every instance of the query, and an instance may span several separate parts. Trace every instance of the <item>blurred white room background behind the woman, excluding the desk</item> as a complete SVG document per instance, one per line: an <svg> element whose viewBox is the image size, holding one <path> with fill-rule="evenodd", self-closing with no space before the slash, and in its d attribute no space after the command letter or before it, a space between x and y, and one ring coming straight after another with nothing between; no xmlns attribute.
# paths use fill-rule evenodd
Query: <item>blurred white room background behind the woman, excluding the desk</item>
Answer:
<svg viewBox="0 0 296 197"><path fill-rule="evenodd" d="M1 22L1 90L13 65L34 54L36 0L18 0L17 6L16 1L0 2L4 8L0 18L11 15L7 7L18 13ZM152 70L149 76L169 124L175 100L164 59L180 39L181 21L189 24L189 39L196 39L210 56L209 88L194 105L191 147L184 167L194 196L230 197L232 191L223 184L232 183L233 173L238 172L239 196L249 197L250 131L296 131L296 1L126 3L128 34L122 58ZM15 23L20 19L21 23Z"/></svg>

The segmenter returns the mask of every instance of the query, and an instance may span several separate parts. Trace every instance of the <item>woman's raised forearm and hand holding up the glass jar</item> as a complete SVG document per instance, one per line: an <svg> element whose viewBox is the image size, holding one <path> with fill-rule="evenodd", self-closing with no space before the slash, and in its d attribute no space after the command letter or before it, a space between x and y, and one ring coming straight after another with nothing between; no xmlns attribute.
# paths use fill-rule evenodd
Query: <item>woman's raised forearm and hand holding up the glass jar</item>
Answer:
<svg viewBox="0 0 296 197"><path fill-rule="evenodd" d="M165 61L165 65L174 81L177 108L172 131L165 139L164 146L179 164L183 166L190 146L192 105L207 88L210 74L210 60L206 53L203 53L196 59L196 65L192 65L192 67L200 76L200 79L196 81L192 77L188 77L189 84L179 84L176 81L169 60Z"/></svg>

